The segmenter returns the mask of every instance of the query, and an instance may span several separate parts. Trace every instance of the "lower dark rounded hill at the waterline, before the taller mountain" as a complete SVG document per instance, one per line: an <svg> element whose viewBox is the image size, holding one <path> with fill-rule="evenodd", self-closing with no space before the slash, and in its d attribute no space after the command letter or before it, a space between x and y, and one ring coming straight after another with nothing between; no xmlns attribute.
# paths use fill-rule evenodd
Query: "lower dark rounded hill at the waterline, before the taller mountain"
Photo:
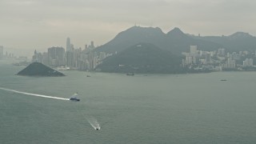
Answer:
<svg viewBox="0 0 256 144"><path fill-rule="evenodd" d="M96 69L111 73L182 73L182 58L150 43L138 43L105 58Z"/></svg>

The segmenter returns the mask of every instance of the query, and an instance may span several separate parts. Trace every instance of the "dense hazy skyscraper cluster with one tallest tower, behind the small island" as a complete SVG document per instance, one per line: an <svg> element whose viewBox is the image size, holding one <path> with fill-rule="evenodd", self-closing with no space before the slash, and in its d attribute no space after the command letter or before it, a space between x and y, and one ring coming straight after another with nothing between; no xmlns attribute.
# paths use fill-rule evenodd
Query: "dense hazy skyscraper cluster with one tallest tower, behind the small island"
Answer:
<svg viewBox="0 0 256 144"><path fill-rule="evenodd" d="M42 62L42 64L59 69L71 70L94 70L102 60L111 54L94 51L94 42L85 45L84 49L75 49L70 42L70 38L66 39L66 50L60 46L48 48L47 52L38 53L34 51L32 62Z"/></svg>

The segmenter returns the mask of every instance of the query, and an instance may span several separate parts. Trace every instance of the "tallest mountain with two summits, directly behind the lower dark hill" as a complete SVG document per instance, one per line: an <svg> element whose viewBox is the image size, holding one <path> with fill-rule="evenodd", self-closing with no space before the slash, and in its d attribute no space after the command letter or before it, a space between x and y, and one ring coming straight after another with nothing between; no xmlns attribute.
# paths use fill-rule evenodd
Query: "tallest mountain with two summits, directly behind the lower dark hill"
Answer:
<svg viewBox="0 0 256 144"><path fill-rule="evenodd" d="M105 45L98 46L96 50L106 53L120 52L139 42L152 43L160 49L168 50L173 54L182 54L182 52L188 51L191 45L197 45L199 50L217 50L222 47L217 42L192 38L178 28L174 28L174 30L170 30L165 34L158 27L133 26L119 33Z"/></svg>

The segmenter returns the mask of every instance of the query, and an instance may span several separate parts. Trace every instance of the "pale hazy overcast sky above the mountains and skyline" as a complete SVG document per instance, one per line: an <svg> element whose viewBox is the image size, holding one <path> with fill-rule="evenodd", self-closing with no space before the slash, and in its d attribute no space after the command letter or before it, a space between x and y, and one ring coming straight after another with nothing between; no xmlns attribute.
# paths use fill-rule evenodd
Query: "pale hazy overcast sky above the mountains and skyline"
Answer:
<svg viewBox="0 0 256 144"><path fill-rule="evenodd" d="M189 34L256 35L254 0L0 0L0 46L20 54L109 42L134 24ZM5 49L6 50L6 49Z"/></svg>

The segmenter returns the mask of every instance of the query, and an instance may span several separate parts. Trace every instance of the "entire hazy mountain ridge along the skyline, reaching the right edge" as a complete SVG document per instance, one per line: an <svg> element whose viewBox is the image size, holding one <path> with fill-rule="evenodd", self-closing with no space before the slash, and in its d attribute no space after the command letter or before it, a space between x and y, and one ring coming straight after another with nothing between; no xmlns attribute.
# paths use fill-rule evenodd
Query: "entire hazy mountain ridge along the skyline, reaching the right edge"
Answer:
<svg viewBox="0 0 256 144"><path fill-rule="evenodd" d="M239 42L235 42L235 40ZM218 50L219 48L226 48L227 50L252 50L253 47L256 48L256 38L243 32L237 32L230 36L199 37L185 34L178 27L164 33L159 27L132 26L118 33L105 45L98 46L96 51L107 53L121 52L140 42L152 43L162 50L169 50L173 54L182 54L182 52L189 51L191 45L198 46L198 50Z"/></svg>

